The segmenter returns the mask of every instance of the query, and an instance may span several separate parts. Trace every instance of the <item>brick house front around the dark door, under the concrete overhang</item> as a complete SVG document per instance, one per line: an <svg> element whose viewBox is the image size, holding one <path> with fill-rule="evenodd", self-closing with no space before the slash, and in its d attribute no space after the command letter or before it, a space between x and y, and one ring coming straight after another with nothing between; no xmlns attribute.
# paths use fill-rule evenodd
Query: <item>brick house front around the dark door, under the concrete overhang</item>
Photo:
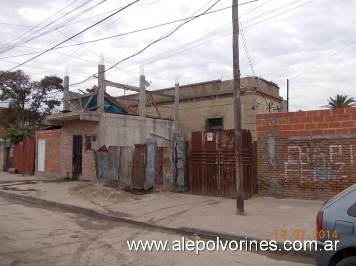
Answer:
<svg viewBox="0 0 356 266"><path fill-rule="evenodd" d="M68 120L61 128L61 176L72 178L73 135L82 135L82 174L80 179L95 179L93 151L85 151L85 134L96 134L99 140L99 122L86 120Z"/></svg>

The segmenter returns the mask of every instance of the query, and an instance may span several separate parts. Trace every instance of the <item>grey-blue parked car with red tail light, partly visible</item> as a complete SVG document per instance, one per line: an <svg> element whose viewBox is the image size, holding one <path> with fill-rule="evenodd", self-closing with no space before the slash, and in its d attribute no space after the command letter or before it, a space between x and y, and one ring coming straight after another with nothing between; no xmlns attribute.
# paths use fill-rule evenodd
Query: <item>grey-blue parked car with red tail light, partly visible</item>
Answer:
<svg viewBox="0 0 356 266"><path fill-rule="evenodd" d="M316 230L317 265L356 265L356 184L324 203L316 216ZM338 241L336 248L325 250L325 241L330 240Z"/></svg>

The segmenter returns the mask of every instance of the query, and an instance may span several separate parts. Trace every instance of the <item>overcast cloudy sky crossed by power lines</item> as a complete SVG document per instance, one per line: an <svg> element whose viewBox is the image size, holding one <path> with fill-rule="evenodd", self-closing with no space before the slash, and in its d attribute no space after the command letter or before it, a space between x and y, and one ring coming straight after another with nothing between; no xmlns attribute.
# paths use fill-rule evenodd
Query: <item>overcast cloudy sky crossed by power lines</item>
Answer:
<svg viewBox="0 0 356 266"><path fill-rule="evenodd" d="M151 89L174 86L176 76L181 85L233 78L232 0L139 0L120 11L132 2L2 1L0 69L22 69L34 80L64 78L67 71L73 91L97 83L92 76L101 60L111 68L106 79L133 86L139 86L143 64ZM284 98L289 79L291 111L318 109L336 94L356 97L356 1L239 4L242 77L271 80Z"/></svg>

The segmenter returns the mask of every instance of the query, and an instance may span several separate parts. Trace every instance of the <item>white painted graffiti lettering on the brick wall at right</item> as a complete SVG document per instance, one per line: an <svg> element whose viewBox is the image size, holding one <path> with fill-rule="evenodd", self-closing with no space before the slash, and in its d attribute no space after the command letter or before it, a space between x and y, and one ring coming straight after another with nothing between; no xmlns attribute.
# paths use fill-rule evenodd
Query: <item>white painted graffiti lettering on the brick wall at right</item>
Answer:
<svg viewBox="0 0 356 266"><path fill-rule="evenodd" d="M353 145L290 145L287 146L287 159L284 162L285 178L297 173L300 182L323 181L337 177L346 178L346 162L351 165L353 159Z"/></svg>

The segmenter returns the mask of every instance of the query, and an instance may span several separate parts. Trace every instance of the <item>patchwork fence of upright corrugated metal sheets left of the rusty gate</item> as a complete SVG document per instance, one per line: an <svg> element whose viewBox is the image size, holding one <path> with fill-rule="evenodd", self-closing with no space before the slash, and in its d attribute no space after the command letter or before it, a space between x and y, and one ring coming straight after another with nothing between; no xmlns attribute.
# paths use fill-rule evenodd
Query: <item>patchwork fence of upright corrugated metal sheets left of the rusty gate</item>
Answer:
<svg viewBox="0 0 356 266"><path fill-rule="evenodd" d="M128 184L131 188L156 191L186 190L186 138L173 135L173 147L157 147L155 138L130 146L102 146L93 141L98 178ZM174 152L172 152L174 150Z"/></svg>

